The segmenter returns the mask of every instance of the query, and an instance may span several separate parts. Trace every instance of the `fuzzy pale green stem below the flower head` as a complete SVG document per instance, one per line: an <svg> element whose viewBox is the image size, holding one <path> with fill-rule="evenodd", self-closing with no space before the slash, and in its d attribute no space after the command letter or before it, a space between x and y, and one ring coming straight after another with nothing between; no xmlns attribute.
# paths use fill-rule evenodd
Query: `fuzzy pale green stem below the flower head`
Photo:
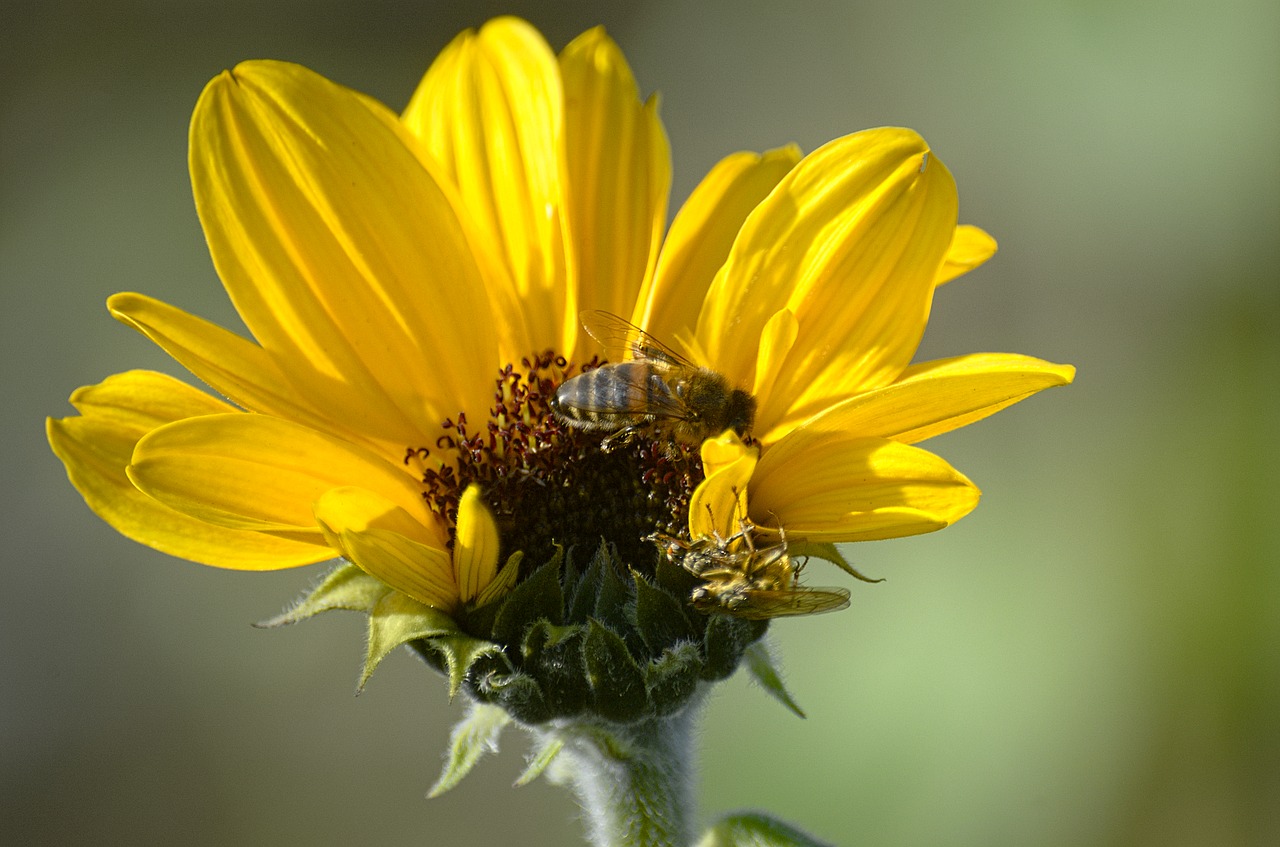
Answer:
<svg viewBox="0 0 1280 847"><path fill-rule="evenodd" d="M544 741L564 745L549 775L570 783L595 847L692 843L692 727L699 708L694 702L675 715L634 724L576 720L544 731Z"/></svg>

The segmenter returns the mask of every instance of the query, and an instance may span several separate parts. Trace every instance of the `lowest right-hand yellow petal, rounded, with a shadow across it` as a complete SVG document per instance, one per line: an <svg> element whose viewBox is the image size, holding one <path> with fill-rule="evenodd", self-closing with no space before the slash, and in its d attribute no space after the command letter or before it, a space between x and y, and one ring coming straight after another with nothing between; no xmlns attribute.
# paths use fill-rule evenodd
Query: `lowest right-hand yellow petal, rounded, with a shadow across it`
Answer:
<svg viewBox="0 0 1280 847"><path fill-rule="evenodd" d="M872 541L941 530L972 512L978 495L919 448L801 427L764 452L750 507L756 522L776 516L797 537Z"/></svg>

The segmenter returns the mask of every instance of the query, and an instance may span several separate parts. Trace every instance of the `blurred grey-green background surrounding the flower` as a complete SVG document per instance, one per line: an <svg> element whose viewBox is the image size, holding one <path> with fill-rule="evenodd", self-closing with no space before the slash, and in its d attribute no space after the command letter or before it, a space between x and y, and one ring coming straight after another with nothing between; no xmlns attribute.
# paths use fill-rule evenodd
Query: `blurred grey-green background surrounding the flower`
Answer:
<svg viewBox="0 0 1280 847"><path fill-rule="evenodd" d="M922 357L1079 366L931 443L984 489L972 517L851 549L888 580L774 626L808 720L721 686L704 819L762 807L840 844L1280 843L1272 0L8 0L0 842L579 843L567 795L509 787L515 734L424 800L458 714L436 678L397 654L353 697L361 618L248 626L314 572L116 536L42 430L78 385L173 370L110 293L237 325L186 174L210 77L291 59L401 107L502 12L557 49L609 28L662 92L675 202L733 150L920 131L1001 243L940 292Z"/></svg>

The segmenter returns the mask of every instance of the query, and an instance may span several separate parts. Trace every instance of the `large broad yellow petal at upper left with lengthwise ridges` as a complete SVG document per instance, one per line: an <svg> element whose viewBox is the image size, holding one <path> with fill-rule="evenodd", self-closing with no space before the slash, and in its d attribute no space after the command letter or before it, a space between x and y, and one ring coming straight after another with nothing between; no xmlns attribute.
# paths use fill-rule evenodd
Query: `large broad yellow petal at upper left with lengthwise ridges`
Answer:
<svg viewBox="0 0 1280 847"><path fill-rule="evenodd" d="M301 395L381 441L488 409L495 338L452 202L397 118L305 68L215 78L191 124L214 264Z"/></svg>

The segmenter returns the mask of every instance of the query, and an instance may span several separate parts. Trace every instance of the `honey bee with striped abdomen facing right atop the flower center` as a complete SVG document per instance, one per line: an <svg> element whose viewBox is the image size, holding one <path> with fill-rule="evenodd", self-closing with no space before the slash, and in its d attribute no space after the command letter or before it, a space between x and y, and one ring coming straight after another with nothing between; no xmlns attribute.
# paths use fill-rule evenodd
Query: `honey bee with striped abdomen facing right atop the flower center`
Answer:
<svg viewBox="0 0 1280 847"><path fill-rule="evenodd" d="M605 353L621 353L623 361L580 374L556 389L552 412L564 425L609 430L602 444L605 450L645 429L687 445L724 430L745 436L751 429L755 398L733 388L723 374L694 365L611 312L582 312L581 319Z"/></svg>

